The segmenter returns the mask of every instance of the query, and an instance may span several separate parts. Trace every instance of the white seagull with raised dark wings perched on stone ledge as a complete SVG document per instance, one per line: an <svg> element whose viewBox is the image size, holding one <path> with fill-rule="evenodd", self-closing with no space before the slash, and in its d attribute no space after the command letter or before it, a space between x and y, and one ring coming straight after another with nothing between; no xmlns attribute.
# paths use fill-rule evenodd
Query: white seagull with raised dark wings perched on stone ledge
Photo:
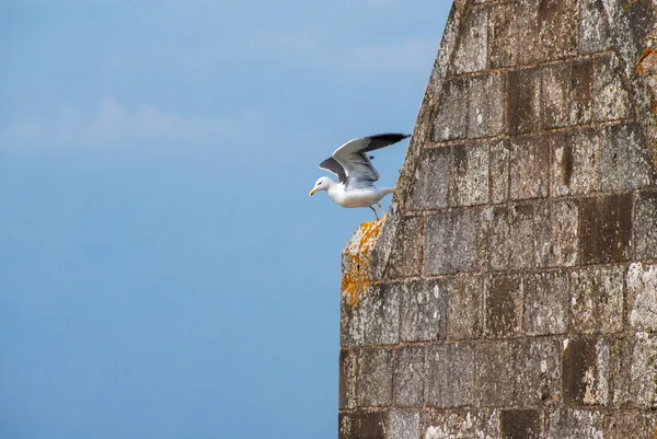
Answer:
<svg viewBox="0 0 657 439"><path fill-rule="evenodd" d="M318 190L326 190L328 197L342 207L369 207L379 220L377 209L372 207L377 205L385 218L379 201L388 194L392 194L394 187L374 186L381 175L372 166L370 160L373 157L368 152L389 147L407 137L411 135L384 134L349 140L336 149L332 157L320 163L321 170L337 176L337 183L328 177L320 177L308 196L312 197Z"/></svg>

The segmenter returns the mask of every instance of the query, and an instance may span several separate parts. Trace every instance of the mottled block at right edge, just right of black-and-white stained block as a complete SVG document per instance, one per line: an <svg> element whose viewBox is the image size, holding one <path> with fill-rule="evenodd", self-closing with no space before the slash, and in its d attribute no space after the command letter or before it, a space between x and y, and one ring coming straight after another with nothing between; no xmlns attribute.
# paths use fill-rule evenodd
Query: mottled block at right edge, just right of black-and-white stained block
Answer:
<svg viewBox="0 0 657 439"><path fill-rule="evenodd" d="M613 403L657 407L657 338L647 333L620 339L613 357Z"/></svg>

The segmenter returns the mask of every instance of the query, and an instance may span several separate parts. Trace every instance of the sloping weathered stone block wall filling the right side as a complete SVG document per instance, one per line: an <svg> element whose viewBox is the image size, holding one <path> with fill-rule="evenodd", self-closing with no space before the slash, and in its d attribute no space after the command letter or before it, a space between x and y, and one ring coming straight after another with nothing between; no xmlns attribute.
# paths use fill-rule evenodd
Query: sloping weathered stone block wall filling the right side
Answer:
<svg viewBox="0 0 657 439"><path fill-rule="evenodd" d="M343 292L341 439L657 437L654 23L454 2L371 285Z"/></svg>

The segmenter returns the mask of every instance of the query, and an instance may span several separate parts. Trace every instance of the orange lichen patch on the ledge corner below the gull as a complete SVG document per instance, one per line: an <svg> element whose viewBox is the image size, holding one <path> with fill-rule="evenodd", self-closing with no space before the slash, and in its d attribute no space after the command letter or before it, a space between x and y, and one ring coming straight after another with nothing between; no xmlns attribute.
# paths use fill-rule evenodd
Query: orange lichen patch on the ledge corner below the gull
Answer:
<svg viewBox="0 0 657 439"><path fill-rule="evenodd" d="M358 304L360 294L367 291L372 282L370 252L377 243L384 220L364 222L354 238L343 251L342 291L347 294L350 307Z"/></svg>

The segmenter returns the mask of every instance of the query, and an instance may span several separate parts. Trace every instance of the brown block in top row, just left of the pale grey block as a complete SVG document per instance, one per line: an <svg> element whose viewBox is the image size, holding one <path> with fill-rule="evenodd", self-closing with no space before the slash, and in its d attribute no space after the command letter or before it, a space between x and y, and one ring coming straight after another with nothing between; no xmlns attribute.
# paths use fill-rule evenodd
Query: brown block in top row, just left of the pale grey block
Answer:
<svg viewBox="0 0 657 439"><path fill-rule="evenodd" d="M542 60L577 55L578 0L541 0L538 22Z"/></svg>

